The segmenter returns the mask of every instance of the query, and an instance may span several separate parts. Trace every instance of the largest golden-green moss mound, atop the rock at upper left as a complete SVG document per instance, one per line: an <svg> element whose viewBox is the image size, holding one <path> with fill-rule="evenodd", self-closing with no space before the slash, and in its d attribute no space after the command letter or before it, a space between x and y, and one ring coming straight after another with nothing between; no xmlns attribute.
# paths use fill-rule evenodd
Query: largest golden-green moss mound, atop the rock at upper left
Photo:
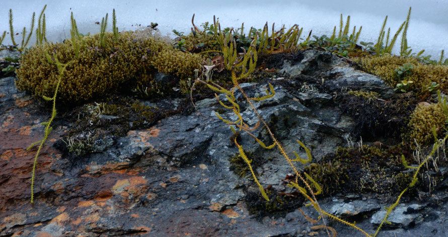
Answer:
<svg viewBox="0 0 448 237"><path fill-rule="evenodd" d="M58 91L57 100L63 104L89 101L130 85L142 85L150 88L150 94L161 94L173 85L162 86L152 77L155 71L176 76L176 83L200 68L201 56L181 52L163 38L123 32L114 40L112 33L105 34L104 48L100 46L99 34L84 37L78 58L71 40L28 50L17 70L18 89L30 91L38 98L51 97L58 74L45 58L45 51L55 54L62 63L70 61Z"/></svg>

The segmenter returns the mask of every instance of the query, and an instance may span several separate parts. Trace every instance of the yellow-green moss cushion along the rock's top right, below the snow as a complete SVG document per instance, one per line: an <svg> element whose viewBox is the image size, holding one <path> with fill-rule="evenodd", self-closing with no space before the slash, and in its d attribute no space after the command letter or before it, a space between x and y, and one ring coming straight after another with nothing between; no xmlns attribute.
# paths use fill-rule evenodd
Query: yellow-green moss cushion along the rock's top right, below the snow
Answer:
<svg viewBox="0 0 448 237"><path fill-rule="evenodd" d="M368 73L380 76L391 87L395 88L402 80L413 81L410 90L426 90L431 82L440 84L442 91L448 90L448 66L423 64L414 57L398 57L392 55L383 55L380 57L365 56L355 58L354 61L361 64ZM399 76L395 69L403 66L404 63L410 63L414 68L411 73L405 76Z"/></svg>

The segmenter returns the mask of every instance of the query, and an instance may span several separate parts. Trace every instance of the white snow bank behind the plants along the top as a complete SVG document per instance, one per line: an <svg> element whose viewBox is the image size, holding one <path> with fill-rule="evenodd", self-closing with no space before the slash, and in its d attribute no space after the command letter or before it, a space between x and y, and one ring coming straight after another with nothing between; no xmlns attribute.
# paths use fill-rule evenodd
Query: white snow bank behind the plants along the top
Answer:
<svg viewBox="0 0 448 237"><path fill-rule="evenodd" d="M76 3L73 3L76 2ZM441 49L448 50L448 0L313 0L313 1L184 1L184 0L137 0L137 1L0 1L0 34L9 32L8 11L13 9L15 32L20 33L23 27L29 30L31 15L38 14L45 4L47 21L47 39L62 41L69 36L70 12L73 12L81 33L96 33L100 26L95 22L109 13L109 30L111 30L112 9L117 13L119 31L134 30L136 24L150 25L159 23L163 34L174 37L172 30L188 33L191 27L191 17L195 14L195 24L212 22L213 15L219 17L221 26L240 27L244 22L247 29L250 26L262 28L266 21L269 26L275 22L278 29L298 24L304 28L303 36L313 29L313 35L331 35L333 27L339 25L340 14L344 21L350 15L351 28L362 26L360 41L375 42L381 24L388 15L387 27L395 33L406 19L409 7L412 7L411 22L408 29L408 45L413 52L425 49L426 54L433 59L440 55ZM21 35L16 41L21 41ZM35 39L33 35L33 39ZM10 44L9 35L3 42ZM400 42L397 42L399 45ZM398 49L396 47L396 49Z"/></svg>

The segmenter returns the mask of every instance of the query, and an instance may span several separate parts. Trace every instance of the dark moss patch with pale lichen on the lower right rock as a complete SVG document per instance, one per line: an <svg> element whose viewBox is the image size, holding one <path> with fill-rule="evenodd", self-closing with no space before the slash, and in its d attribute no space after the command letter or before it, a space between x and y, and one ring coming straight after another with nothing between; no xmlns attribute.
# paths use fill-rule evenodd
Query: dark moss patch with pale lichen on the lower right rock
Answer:
<svg viewBox="0 0 448 237"><path fill-rule="evenodd" d="M399 158L402 154L409 164L415 164L411 149L404 145L338 147L334 153L306 167L304 172L322 186L323 196L336 193L376 193L394 197L409 186L414 175L414 170L403 166ZM433 184L443 180L442 175L430 170L421 171L417 184L406 196L416 196L416 190L429 191L428 178Z"/></svg>

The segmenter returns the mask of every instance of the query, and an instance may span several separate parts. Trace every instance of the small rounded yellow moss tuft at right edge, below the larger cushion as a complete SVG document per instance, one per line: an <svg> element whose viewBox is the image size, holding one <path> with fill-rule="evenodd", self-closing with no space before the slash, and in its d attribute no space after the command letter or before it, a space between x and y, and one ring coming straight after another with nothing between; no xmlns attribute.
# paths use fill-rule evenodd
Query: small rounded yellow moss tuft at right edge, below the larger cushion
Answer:
<svg viewBox="0 0 448 237"><path fill-rule="evenodd" d="M404 134L404 141L415 147L418 144L429 144L433 141L433 127L436 128L436 135L443 134L445 128L445 114L440 104L429 106L419 105L411 114L408 123L408 132Z"/></svg>

